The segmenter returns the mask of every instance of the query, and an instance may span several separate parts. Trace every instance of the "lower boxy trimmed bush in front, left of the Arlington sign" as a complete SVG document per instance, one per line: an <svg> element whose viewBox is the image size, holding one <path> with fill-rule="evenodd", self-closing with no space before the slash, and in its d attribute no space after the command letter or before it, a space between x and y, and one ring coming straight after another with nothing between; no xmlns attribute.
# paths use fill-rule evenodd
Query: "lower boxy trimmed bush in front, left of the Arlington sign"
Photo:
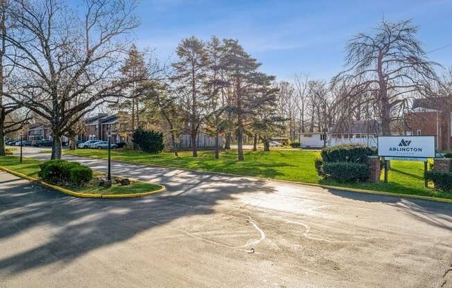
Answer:
<svg viewBox="0 0 452 288"><path fill-rule="evenodd" d="M339 181L365 181L368 168L365 163L353 162L327 162L322 165L322 172L327 177Z"/></svg>

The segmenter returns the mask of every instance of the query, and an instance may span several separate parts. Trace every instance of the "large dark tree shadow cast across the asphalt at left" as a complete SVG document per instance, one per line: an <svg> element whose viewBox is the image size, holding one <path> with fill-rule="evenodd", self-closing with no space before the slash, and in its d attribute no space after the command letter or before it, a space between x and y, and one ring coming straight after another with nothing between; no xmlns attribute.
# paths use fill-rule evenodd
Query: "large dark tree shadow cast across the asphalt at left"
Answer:
<svg viewBox="0 0 452 288"><path fill-rule="evenodd" d="M214 213L218 201L234 195L275 191L259 179L143 166L137 169L134 165L124 168L121 163L114 163L112 171L165 183L168 191L136 199L79 199L34 183L17 185L12 176L8 177L10 182L3 181L0 218L6 221L0 223L0 240L36 228L55 232L44 236L43 244L1 259L0 271L15 274L56 262L68 263L180 217Z"/></svg>

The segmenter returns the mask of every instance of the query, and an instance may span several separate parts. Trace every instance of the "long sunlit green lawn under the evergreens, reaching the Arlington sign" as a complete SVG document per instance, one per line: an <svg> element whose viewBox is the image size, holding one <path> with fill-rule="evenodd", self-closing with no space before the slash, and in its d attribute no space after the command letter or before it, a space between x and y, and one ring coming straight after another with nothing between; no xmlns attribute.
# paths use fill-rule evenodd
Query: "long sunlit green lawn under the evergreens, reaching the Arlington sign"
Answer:
<svg viewBox="0 0 452 288"><path fill-rule="evenodd" d="M65 150L64 154L107 159L107 150ZM422 162L391 161L389 183L340 183L331 179L319 179L314 168L314 160L318 156L320 152L313 150L245 150L245 161L238 162L236 150L222 152L219 160L214 159L213 152L199 152L198 158L193 158L191 152L180 152L180 156L176 158L171 153L146 154L139 151L112 150L113 160L452 199L450 192L424 188Z"/></svg>

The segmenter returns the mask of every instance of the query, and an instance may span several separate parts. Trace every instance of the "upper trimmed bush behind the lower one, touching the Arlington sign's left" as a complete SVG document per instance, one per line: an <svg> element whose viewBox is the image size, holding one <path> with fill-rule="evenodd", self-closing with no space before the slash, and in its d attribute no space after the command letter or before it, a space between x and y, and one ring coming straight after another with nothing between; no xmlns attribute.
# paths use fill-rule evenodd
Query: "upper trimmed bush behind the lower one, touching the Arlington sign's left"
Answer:
<svg viewBox="0 0 452 288"><path fill-rule="evenodd" d="M322 150L324 162L366 163L367 156L376 154L376 150L358 144L344 144L327 147Z"/></svg>

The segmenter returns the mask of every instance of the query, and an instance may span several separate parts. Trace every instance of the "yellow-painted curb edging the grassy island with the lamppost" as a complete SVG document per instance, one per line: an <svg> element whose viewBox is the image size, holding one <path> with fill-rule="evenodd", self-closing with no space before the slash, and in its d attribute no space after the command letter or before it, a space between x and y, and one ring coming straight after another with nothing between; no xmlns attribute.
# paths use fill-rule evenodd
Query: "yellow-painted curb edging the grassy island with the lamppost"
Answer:
<svg viewBox="0 0 452 288"><path fill-rule="evenodd" d="M38 183L42 186L46 186L48 188L52 188L53 190L57 190L58 192L62 192L66 195L70 195L72 197L78 197L78 198L137 198L137 197L144 197L144 196L148 196L148 195L154 195L154 194L158 194L158 193L162 193L166 190L166 187L161 185L161 184L154 184L154 185L158 185L158 186L162 186L162 188L160 188L159 190L154 190L154 191L149 191L149 192L141 192L141 193L132 193L132 194L89 194L89 193L80 193L80 192L75 192L72 190L69 190L67 188L62 188L60 186L55 186L53 184L41 181L39 179L33 178L33 177L29 177L26 174L22 174L13 170L9 170L8 168L4 168L0 166L0 170L10 173L12 175L15 175L17 177L26 179L28 181L34 182L34 183Z"/></svg>

